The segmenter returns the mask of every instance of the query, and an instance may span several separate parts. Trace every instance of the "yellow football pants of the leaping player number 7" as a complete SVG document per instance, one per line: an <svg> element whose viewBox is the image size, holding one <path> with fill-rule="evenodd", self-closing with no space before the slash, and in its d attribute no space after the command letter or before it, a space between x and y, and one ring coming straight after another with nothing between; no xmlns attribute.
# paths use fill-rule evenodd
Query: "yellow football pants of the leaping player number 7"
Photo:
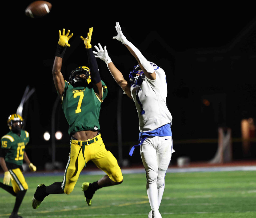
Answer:
<svg viewBox="0 0 256 218"><path fill-rule="evenodd" d="M101 134L86 141L71 138L69 160L61 184L61 188L66 194L73 191L80 172L89 160L103 170L112 181L118 183L123 180L117 159L110 151L106 150Z"/></svg>

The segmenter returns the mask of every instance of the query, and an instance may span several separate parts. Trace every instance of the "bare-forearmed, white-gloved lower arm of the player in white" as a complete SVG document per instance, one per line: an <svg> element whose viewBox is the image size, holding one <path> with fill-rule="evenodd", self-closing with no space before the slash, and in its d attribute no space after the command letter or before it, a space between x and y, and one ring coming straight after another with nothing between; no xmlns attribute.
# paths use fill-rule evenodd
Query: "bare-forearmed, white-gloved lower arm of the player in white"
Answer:
<svg viewBox="0 0 256 218"><path fill-rule="evenodd" d="M94 46L96 51L93 51L93 53L95 54L96 58L99 58L103 61L105 61L105 63L107 64L107 67L109 68L109 71L111 73L111 75L113 76L113 78L115 79L115 81L117 82L117 84L119 86L121 86L121 88L123 89L123 91L130 97L131 97L131 86L130 84L123 78L123 74L115 67L114 63L112 62L112 60L110 59L108 53L107 53L107 46L104 47L104 49L102 48L101 44L98 44L99 47Z"/></svg>

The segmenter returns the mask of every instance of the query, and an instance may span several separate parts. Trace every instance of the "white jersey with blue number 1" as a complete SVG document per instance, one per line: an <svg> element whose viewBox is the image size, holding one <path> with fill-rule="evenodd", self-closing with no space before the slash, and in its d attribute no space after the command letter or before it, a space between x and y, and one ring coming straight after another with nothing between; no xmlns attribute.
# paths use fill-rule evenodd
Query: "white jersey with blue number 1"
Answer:
<svg viewBox="0 0 256 218"><path fill-rule="evenodd" d="M155 64L154 64L155 65ZM170 111L166 106L167 83L165 71L155 65L156 79L145 76L141 86L131 86L131 96L135 102L139 116L141 132L155 130L172 121Z"/></svg>

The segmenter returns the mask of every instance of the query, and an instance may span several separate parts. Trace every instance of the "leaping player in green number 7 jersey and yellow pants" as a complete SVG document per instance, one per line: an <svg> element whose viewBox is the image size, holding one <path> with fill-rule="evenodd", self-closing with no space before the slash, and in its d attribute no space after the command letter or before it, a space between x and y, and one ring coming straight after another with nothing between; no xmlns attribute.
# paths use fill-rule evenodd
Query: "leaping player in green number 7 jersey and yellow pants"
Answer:
<svg viewBox="0 0 256 218"><path fill-rule="evenodd" d="M97 167L107 175L93 183L84 182L82 190L86 203L90 206L96 190L102 187L122 183L123 176L117 160L107 151L99 133L99 111L101 103L107 95L107 87L101 80L96 58L91 49L91 35L93 27L89 29L84 41L88 56L89 68L81 66L73 70L69 82L65 81L61 73L62 58L68 41L73 36L68 30L62 34L59 30L59 41L53 64L53 81L62 109L69 123L70 153L62 182L55 182L49 186L39 184L32 199L32 207L37 209L43 199L49 194L70 194L78 180L85 164L92 160Z"/></svg>

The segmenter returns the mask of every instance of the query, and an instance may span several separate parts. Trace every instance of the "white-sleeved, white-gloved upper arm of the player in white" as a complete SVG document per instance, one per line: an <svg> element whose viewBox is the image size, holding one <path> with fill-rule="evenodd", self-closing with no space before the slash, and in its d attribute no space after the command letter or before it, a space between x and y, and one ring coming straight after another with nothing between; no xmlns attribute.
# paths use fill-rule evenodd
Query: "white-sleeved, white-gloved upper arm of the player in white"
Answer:
<svg viewBox="0 0 256 218"><path fill-rule="evenodd" d="M142 55L139 49L137 49L131 42L126 39L126 37L122 33L119 22L116 23L115 29L117 30L117 36L114 36L113 39L117 39L118 41L122 42L138 61L139 66L141 67L147 78L154 80L156 78L155 70L147 61L147 59Z"/></svg>

